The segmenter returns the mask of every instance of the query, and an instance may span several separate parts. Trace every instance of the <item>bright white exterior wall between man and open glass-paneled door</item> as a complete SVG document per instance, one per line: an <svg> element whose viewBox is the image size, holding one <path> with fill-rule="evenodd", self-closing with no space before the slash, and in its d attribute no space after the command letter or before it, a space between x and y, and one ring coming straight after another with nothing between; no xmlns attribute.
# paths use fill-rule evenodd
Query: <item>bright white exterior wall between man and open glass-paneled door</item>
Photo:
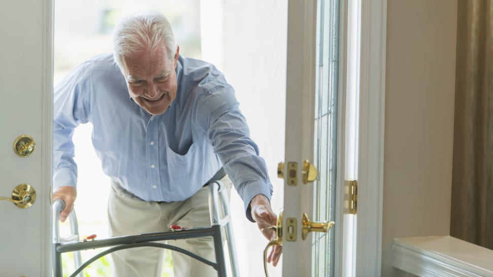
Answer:
<svg viewBox="0 0 493 277"><path fill-rule="evenodd" d="M278 214L284 196L284 181L277 178L277 164L284 161L285 151L287 1L203 0L201 4L213 10L202 11L201 21L208 22L207 28L214 28L209 40L202 36L203 59L218 65L235 88L251 136L266 161L274 186L271 203ZM224 17L224 21L217 17ZM221 39L224 44L218 45L217 40ZM263 276L263 251L268 241L257 224L245 218L242 207L239 196L232 192L240 273ZM269 266L269 276L280 276L281 267L280 263L276 268Z"/></svg>

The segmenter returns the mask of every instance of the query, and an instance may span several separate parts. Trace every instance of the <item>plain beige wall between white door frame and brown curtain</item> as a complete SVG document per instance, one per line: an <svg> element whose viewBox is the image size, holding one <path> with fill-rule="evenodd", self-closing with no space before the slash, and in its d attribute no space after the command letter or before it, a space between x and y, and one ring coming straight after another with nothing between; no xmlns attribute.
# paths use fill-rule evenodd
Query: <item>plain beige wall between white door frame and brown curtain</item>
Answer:
<svg viewBox="0 0 493 277"><path fill-rule="evenodd" d="M394 238L450 226L456 0L388 0L382 276Z"/></svg>

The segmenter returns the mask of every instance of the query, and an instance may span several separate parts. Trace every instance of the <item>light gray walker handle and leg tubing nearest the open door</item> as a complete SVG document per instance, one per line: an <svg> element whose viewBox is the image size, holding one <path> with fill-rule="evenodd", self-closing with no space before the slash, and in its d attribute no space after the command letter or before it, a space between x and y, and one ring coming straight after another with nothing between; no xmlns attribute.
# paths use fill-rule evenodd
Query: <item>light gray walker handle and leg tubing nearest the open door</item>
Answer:
<svg viewBox="0 0 493 277"><path fill-rule="evenodd" d="M209 184L209 215L210 225L223 225L224 220L227 222L224 224L226 229L226 241L228 243L229 258L231 263L231 270L234 277L239 277L238 260L236 256L236 248L234 245L234 236L231 222L231 213L229 210L229 197L228 192L224 189L223 182L216 180ZM221 208L223 217L219 216L218 194L221 196Z"/></svg>

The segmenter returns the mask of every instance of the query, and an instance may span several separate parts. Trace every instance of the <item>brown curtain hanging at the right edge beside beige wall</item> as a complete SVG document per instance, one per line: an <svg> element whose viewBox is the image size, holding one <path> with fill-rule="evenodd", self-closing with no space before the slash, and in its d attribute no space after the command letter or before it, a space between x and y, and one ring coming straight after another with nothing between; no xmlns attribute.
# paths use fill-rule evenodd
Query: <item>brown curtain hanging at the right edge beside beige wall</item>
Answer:
<svg viewBox="0 0 493 277"><path fill-rule="evenodd" d="M493 249L493 0L459 0L450 235Z"/></svg>

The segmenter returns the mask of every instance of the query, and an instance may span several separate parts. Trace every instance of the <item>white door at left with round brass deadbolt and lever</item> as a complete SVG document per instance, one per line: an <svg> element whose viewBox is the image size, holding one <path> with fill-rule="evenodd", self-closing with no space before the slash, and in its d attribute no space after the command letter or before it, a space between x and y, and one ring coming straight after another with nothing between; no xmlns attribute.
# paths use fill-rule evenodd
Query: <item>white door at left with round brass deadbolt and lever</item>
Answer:
<svg viewBox="0 0 493 277"><path fill-rule="evenodd" d="M50 276L52 2L3 1L0 36L0 276ZM14 152L21 135L36 143L32 151L26 139L19 142L20 152L32 151L30 156ZM28 208L4 200L20 184L36 192Z"/></svg>

